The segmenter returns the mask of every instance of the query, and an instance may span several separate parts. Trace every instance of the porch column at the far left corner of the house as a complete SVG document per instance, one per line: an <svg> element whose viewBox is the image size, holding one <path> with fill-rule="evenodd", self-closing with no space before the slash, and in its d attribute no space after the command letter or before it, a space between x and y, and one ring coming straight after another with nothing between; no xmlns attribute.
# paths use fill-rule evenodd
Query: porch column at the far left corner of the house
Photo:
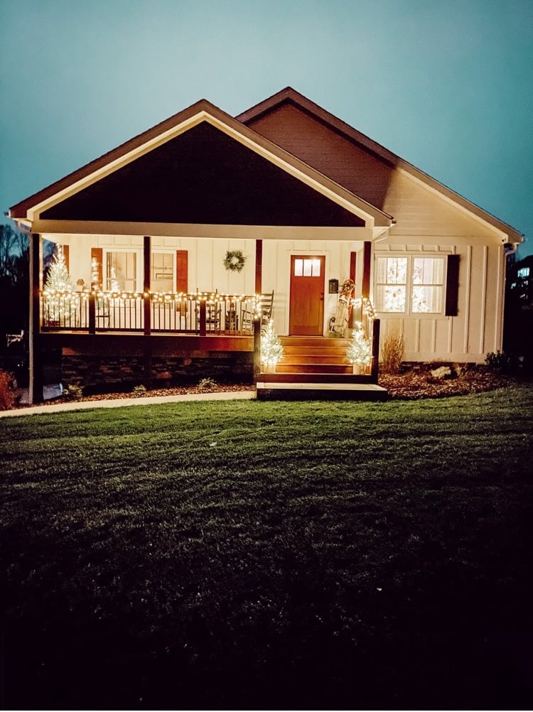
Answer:
<svg viewBox="0 0 533 712"><path fill-rule="evenodd" d="M41 286L43 281L43 240L30 236L30 314L29 314L29 402L43 402L43 347L41 345Z"/></svg>

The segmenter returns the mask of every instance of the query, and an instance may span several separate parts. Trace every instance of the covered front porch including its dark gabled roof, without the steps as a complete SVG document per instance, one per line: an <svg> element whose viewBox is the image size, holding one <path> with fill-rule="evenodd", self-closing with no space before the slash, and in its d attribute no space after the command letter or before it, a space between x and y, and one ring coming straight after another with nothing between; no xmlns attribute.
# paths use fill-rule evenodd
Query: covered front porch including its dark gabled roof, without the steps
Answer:
<svg viewBox="0 0 533 712"><path fill-rule="evenodd" d="M50 342L80 362L139 353L146 379L162 356L209 376L222 355L228 375L236 359L248 360L258 381L267 294L280 336L327 341L336 316L335 337L364 322L374 355L359 378L376 381L377 320L357 310L369 303L373 243L391 216L209 103L43 189L11 216L32 235L32 402L42 398L41 352ZM43 283L43 239L63 246L75 285L67 294ZM346 281L354 290L339 333Z"/></svg>

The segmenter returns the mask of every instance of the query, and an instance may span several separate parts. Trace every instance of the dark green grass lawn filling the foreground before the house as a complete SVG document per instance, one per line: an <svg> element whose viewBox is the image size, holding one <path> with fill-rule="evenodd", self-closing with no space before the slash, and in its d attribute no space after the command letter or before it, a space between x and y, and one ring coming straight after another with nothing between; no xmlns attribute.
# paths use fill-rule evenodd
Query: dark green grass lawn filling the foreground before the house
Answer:
<svg viewBox="0 0 533 712"><path fill-rule="evenodd" d="M9 708L528 708L533 394L0 419Z"/></svg>

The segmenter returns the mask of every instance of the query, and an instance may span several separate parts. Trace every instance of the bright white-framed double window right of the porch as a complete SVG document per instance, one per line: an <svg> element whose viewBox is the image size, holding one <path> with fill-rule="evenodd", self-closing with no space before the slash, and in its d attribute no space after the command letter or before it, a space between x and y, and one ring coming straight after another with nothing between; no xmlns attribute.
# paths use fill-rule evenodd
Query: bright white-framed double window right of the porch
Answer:
<svg viewBox="0 0 533 712"><path fill-rule="evenodd" d="M441 314L443 257L378 257L376 309L381 312Z"/></svg>

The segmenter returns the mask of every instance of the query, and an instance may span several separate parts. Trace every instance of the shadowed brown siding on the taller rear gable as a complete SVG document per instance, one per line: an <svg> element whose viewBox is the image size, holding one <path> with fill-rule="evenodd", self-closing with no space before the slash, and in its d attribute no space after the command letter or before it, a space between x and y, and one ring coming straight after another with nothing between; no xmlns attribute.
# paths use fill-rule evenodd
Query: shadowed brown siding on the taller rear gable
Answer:
<svg viewBox="0 0 533 712"><path fill-rule="evenodd" d="M250 128L379 209L394 167L286 102L248 122Z"/></svg>

